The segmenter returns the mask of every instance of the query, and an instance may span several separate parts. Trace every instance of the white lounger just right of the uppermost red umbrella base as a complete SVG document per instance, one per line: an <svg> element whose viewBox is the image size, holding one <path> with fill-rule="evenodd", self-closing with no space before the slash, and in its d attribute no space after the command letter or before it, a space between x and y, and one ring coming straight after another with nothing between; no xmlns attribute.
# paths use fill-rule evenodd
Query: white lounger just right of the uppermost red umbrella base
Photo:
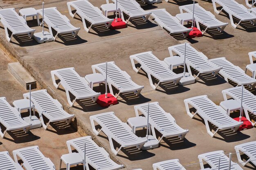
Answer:
<svg viewBox="0 0 256 170"><path fill-rule="evenodd" d="M116 3L116 0L112 0L112 1ZM123 14L121 14L123 21L125 21L126 23L129 22L130 18L138 18L138 17L142 17L145 21L147 21L151 14L151 12L149 11L144 11L144 9L142 9L139 3L136 2L135 0L118 0L117 2L118 2L117 5L119 9L129 16L129 18L125 21Z"/></svg>

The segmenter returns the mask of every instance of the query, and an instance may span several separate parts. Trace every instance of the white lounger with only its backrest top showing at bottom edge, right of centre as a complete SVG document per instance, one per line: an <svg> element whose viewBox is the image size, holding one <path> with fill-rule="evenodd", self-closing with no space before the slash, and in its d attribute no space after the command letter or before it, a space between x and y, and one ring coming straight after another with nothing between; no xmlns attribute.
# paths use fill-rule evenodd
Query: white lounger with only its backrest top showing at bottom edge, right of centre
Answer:
<svg viewBox="0 0 256 170"><path fill-rule="evenodd" d="M161 161L153 163L154 170L186 170L182 164L180 164L179 159L171 159L167 161Z"/></svg>

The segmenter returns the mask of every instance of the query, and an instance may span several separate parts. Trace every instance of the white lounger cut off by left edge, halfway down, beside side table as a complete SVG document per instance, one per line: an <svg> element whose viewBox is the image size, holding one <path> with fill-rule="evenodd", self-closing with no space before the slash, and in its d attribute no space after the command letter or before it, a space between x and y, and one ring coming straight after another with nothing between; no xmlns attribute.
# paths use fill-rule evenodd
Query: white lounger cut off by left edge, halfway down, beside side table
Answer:
<svg viewBox="0 0 256 170"><path fill-rule="evenodd" d="M13 108L5 97L0 97L0 123L6 128L2 132L0 127L0 136L4 138L7 131L23 129L25 132L29 131L32 124L28 124L20 117L20 113L16 108Z"/></svg>

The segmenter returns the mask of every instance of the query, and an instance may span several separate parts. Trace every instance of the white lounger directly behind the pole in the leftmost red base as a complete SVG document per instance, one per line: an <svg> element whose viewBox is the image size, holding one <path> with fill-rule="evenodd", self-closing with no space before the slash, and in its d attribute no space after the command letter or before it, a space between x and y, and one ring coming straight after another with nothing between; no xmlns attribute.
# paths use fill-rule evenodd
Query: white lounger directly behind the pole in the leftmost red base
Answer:
<svg viewBox="0 0 256 170"><path fill-rule="evenodd" d="M106 77L106 63L92 65L93 73L99 71L104 77ZM112 86L119 90L117 96L115 96ZM126 71L122 71L115 62L108 62L108 87L110 93L116 98L120 93L134 92L139 95L144 86L139 86L132 81L130 75Z"/></svg>

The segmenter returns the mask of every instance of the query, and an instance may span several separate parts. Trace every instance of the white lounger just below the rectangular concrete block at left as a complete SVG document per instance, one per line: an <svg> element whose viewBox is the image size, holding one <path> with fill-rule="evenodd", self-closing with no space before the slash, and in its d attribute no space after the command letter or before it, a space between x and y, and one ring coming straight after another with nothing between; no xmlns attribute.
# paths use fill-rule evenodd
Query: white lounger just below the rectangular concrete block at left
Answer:
<svg viewBox="0 0 256 170"><path fill-rule="evenodd" d="M23 94L23 97L24 99L29 99L29 93ZM70 124L74 117L74 115L70 115L65 112L58 100L53 99L46 90L32 91L31 101L34 103L35 109L40 115L40 121L42 122L45 130L48 128L50 122L65 120L67 124ZM48 124L45 124L42 115L49 119Z"/></svg>

